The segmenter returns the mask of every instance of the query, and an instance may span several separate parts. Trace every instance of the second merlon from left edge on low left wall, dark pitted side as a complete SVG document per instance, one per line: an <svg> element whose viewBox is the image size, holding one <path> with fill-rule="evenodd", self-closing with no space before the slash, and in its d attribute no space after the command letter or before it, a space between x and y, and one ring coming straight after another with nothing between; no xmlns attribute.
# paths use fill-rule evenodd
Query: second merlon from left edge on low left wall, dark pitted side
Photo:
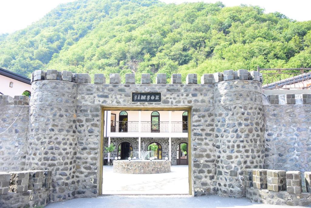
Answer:
<svg viewBox="0 0 311 208"><path fill-rule="evenodd" d="M9 192L21 192L28 190L28 183L29 183L28 171L9 172L9 173L11 174Z"/></svg>

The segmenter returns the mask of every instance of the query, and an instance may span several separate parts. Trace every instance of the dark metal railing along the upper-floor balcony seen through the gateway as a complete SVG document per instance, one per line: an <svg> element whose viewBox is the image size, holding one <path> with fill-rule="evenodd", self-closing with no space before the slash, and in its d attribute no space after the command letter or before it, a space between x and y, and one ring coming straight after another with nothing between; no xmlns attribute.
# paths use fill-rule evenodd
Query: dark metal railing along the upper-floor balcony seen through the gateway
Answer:
<svg viewBox="0 0 311 208"><path fill-rule="evenodd" d="M182 121L112 121L110 132L188 132L188 122Z"/></svg>

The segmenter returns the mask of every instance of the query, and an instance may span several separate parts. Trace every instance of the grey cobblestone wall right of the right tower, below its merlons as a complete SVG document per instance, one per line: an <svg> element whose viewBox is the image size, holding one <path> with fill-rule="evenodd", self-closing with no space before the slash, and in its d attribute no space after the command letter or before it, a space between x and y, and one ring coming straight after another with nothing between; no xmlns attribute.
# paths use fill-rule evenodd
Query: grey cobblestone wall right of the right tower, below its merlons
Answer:
<svg viewBox="0 0 311 208"><path fill-rule="evenodd" d="M311 104L263 105L268 169L311 171Z"/></svg>

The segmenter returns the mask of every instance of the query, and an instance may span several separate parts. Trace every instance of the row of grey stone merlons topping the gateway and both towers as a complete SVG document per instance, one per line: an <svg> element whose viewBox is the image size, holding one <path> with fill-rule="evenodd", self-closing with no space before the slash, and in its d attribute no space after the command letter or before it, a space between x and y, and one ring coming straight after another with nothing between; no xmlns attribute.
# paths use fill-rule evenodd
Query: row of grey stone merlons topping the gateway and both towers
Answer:
<svg viewBox="0 0 311 208"><path fill-rule="evenodd" d="M171 76L171 84L181 84L181 74L173 74ZM201 84L214 84L221 81L228 80L253 80L262 82L261 74L257 71L248 71L245 69L225 70L224 72L216 72L213 74L203 74L201 77ZM73 83L91 83L91 76L86 73L72 73L70 71L58 71L49 69L46 72L43 70L36 70L32 73L31 82L39 80L62 80ZM94 84L105 84L106 78L104 74L94 75ZM167 84L166 74L156 74L156 84ZM121 77L119 74L109 75L109 84L121 84ZM135 74L125 74L125 84L136 84ZM137 83L138 84L138 83ZM150 74L142 74L140 84L151 84ZM197 84L197 74L188 74L186 77L186 84Z"/></svg>

